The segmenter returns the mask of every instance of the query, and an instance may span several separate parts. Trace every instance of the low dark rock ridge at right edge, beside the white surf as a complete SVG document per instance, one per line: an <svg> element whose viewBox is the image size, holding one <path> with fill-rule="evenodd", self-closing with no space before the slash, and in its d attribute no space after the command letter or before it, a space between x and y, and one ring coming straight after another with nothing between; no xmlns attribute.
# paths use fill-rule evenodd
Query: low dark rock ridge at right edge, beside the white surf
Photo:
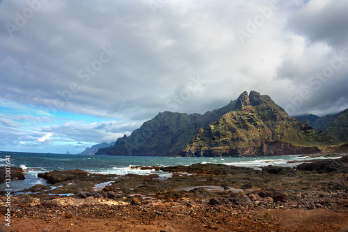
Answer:
<svg viewBox="0 0 348 232"><path fill-rule="evenodd" d="M296 169L299 171L317 171L318 173L333 171L348 173L348 156L338 160L315 160L310 163L299 164Z"/></svg>

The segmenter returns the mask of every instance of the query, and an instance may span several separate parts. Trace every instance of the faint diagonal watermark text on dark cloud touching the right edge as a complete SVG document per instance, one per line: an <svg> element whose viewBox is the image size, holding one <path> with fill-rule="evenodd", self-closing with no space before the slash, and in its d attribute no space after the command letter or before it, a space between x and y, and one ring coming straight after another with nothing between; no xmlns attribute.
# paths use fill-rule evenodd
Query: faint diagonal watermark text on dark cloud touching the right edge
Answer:
<svg viewBox="0 0 348 232"><path fill-rule="evenodd" d="M299 88L299 95L290 97L290 104L285 107L287 114L294 114L296 109L300 109L303 106L303 102L312 98L311 90L319 91L322 88L323 83L326 83L329 78L333 77L336 70L342 68L348 61L348 47L343 49L339 54L334 53L329 65L322 68L321 72L315 72L308 78L308 83Z"/></svg>

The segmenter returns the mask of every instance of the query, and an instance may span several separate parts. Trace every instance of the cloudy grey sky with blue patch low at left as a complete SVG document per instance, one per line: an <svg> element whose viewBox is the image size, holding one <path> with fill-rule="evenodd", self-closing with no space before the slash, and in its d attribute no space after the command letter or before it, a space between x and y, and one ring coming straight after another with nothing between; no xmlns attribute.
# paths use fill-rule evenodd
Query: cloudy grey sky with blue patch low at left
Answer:
<svg viewBox="0 0 348 232"><path fill-rule="evenodd" d="M80 153L243 91L348 108L346 0L0 0L0 150Z"/></svg>

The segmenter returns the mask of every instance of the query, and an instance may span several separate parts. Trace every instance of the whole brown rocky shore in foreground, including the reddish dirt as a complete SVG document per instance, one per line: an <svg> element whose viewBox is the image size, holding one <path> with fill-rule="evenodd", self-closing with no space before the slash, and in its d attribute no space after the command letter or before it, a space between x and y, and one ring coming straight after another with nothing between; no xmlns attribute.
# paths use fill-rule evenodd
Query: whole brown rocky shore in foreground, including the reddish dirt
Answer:
<svg viewBox="0 0 348 232"><path fill-rule="evenodd" d="M142 168L172 175L42 173L54 184L35 185L12 196L13 223L8 229L3 221L1 229L348 231L348 155L296 169L223 164ZM2 196L2 215L5 202Z"/></svg>

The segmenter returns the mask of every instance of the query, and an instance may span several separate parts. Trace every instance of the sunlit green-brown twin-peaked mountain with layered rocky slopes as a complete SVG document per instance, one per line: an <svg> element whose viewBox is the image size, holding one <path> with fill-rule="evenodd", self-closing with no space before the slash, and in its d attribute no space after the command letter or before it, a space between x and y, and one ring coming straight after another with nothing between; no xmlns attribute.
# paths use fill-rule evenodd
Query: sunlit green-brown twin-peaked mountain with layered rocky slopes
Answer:
<svg viewBox="0 0 348 232"><path fill-rule="evenodd" d="M269 98L242 93L232 111L200 128L182 156L260 156L318 153L338 144L335 137L304 125L287 115Z"/></svg>

